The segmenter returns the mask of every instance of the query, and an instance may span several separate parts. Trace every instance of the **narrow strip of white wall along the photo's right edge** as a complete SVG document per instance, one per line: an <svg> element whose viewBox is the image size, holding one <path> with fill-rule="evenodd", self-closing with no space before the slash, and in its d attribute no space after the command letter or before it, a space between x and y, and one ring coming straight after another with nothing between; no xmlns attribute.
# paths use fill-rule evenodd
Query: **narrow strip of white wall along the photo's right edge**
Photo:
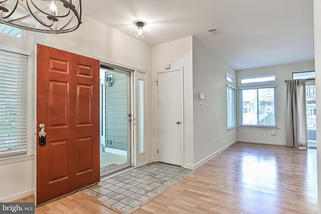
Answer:
<svg viewBox="0 0 321 214"><path fill-rule="evenodd" d="M316 115L321 115L321 2L313 1L314 8L314 59L315 59L315 84L316 84ZM321 124L321 117L316 118L316 124ZM318 213L321 212L321 129L316 131L317 142L317 195L318 195Z"/></svg>

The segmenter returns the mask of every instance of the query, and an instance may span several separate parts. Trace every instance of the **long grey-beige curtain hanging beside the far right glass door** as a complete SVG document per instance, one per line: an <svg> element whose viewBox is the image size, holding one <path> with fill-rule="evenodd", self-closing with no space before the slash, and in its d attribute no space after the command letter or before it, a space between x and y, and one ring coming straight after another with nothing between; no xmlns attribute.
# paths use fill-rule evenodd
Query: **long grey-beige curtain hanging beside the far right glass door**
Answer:
<svg viewBox="0 0 321 214"><path fill-rule="evenodd" d="M305 80L286 81L286 145L307 148Z"/></svg>

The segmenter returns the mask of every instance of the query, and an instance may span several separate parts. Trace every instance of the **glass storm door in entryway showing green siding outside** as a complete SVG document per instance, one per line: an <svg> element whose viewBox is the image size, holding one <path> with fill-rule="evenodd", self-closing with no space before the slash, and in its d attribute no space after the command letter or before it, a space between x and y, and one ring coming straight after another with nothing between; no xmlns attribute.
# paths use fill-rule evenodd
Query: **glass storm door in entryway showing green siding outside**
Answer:
<svg viewBox="0 0 321 214"><path fill-rule="evenodd" d="M100 66L100 176L131 166L130 71Z"/></svg>

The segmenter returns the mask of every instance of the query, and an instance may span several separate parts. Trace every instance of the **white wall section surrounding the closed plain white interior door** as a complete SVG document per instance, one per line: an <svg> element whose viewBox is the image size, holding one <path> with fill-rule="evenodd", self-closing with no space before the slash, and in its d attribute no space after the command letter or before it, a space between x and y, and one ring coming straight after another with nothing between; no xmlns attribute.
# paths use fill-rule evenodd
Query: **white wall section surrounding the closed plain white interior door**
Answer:
<svg viewBox="0 0 321 214"><path fill-rule="evenodd" d="M184 167L193 168L193 65L192 37L152 47L152 142L150 149L156 157L157 149L157 88L156 72L165 70L166 64L171 68L184 67ZM170 86L169 86L170 87Z"/></svg>

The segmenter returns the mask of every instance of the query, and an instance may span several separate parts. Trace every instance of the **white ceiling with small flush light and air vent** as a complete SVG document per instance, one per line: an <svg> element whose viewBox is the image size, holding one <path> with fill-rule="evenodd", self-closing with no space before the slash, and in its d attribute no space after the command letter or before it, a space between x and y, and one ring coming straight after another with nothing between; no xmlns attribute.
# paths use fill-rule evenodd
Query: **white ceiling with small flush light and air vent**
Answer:
<svg viewBox="0 0 321 214"><path fill-rule="evenodd" d="M235 70L314 59L312 0L83 0L82 10L134 38L145 22L150 46L195 36Z"/></svg>

